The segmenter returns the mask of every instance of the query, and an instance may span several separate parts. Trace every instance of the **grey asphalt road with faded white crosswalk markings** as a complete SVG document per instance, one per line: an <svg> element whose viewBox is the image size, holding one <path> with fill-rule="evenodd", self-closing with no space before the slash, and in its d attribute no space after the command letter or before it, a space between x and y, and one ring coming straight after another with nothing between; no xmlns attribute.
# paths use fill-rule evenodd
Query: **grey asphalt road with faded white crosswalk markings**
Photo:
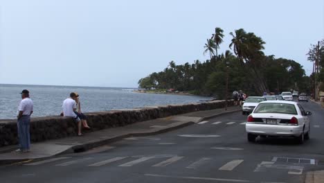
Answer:
<svg viewBox="0 0 324 183"><path fill-rule="evenodd" d="M302 103L311 139L246 139L241 112L84 153L0 167L0 182L303 182L324 169L324 110Z"/></svg>

